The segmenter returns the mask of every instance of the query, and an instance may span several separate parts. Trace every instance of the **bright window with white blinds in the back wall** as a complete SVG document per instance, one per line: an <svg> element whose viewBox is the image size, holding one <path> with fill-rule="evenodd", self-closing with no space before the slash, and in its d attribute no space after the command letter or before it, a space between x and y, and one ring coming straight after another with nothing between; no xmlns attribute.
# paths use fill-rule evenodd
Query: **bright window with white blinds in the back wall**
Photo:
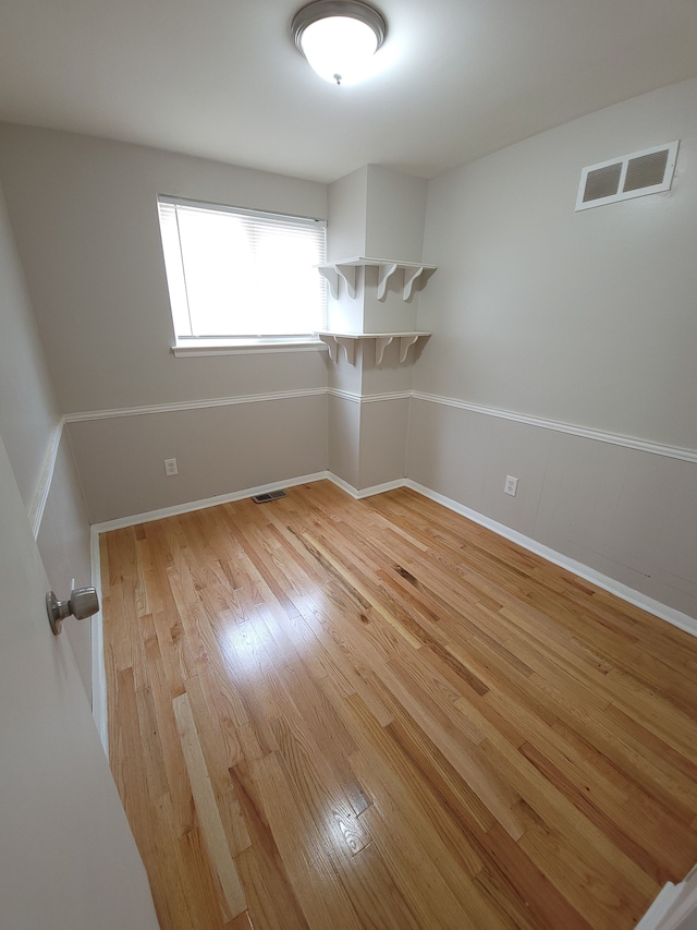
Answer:
<svg viewBox="0 0 697 930"><path fill-rule="evenodd" d="M178 346L307 339L325 328L323 220L158 197Z"/></svg>

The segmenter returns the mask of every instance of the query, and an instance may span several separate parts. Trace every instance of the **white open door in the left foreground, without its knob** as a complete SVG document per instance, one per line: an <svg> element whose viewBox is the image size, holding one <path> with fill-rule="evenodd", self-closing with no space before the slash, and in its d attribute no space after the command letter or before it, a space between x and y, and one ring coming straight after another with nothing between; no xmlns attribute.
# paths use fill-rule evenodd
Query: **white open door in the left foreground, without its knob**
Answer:
<svg viewBox="0 0 697 930"><path fill-rule="evenodd" d="M47 585L0 438L0 927L155 930L72 652L48 624Z"/></svg>

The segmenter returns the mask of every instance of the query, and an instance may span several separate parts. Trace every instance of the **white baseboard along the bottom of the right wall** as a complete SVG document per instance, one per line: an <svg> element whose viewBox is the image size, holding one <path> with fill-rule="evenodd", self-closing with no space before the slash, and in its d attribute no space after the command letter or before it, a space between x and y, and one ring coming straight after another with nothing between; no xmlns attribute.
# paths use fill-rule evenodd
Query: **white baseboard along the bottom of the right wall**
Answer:
<svg viewBox="0 0 697 930"><path fill-rule="evenodd" d="M454 510L455 514L467 517L468 520L479 523L479 526L486 527L488 530L492 530L494 533L498 533L506 540L511 540L511 542L523 546L523 548L528 549L528 552L535 553L536 555L546 558L548 561L567 569L574 575L577 575L579 578L585 578L586 581L590 581L598 588L602 588L604 591L615 594L621 600L626 601L629 604L634 604L635 607L640 607L640 609L647 611L649 614L653 614L653 616L659 617L662 620L667 620L674 627L680 627L680 629L685 630L685 632L697 636L697 619L694 617L683 614L681 611L676 611L665 604L661 604L660 601L655 601L652 597L641 594L639 591L635 591L634 588L629 588L628 584L615 581L614 578L610 578L600 571L596 571L595 568L584 565L582 561L576 561L574 558L570 558L555 549L549 548L549 546L538 543L537 540L526 536L523 533L518 533L517 530L512 530L510 527L499 523L490 517L485 517L484 514L470 510L469 507L465 507L464 504L458 504L456 500L445 497L442 494L438 494L429 487L425 487L423 484L418 484L411 479L406 479L402 484L405 487L411 487L412 491L416 491L418 494L423 494L424 497L428 497L429 500L442 504L443 507L448 507L449 510Z"/></svg>

